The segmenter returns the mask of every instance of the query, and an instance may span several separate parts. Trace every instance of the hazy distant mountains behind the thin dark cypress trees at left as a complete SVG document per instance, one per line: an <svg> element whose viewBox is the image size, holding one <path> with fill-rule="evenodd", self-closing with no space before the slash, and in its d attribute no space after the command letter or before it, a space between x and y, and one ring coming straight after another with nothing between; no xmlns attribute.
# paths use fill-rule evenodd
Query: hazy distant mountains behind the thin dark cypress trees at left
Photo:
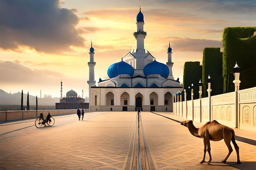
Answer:
<svg viewBox="0 0 256 170"><path fill-rule="evenodd" d="M38 106L55 106L60 102L60 98L40 98L37 97ZM0 105L21 105L21 93L7 93L0 89ZM23 93L23 106L27 105L27 94ZM29 95L29 105L36 105L36 97Z"/></svg>

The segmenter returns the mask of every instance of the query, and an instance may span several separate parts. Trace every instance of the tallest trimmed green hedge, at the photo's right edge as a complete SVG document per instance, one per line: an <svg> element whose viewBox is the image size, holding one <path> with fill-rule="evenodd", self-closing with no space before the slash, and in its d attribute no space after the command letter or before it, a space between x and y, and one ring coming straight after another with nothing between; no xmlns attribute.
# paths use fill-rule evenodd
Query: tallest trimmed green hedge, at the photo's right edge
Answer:
<svg viewBox="0 0 256 170"><path fill-rule="evenodd" d="M228 27L222 35L223 93L234 91L233 68L241 68L240 90L256 86L256 27Z"/></svg>

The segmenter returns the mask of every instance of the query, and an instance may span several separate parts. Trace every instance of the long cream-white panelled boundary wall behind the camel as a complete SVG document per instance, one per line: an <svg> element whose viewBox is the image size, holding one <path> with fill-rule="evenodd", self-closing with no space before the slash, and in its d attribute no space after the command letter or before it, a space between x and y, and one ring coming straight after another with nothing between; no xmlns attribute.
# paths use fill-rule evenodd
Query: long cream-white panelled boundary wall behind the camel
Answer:
<svg viewBox="0 0 256 170"><path fill-rule="evenodd" d="M175 116L199 122L217 120L226 126L256 132L256 87L201 99L173 101Z"/></svg>

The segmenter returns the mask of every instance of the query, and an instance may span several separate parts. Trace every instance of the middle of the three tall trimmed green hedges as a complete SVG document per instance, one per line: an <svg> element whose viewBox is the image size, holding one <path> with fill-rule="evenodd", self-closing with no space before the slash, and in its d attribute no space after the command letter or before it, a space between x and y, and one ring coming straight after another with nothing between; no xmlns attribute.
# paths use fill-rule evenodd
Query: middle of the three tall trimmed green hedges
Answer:
<svg viewBox="0 0 256 170"><path fill-rule="evenodd" d="M208 75L211 77L211 95L223 93L222 52L220 48L205 48L202 61L203 97L208 97Z"/></svg>

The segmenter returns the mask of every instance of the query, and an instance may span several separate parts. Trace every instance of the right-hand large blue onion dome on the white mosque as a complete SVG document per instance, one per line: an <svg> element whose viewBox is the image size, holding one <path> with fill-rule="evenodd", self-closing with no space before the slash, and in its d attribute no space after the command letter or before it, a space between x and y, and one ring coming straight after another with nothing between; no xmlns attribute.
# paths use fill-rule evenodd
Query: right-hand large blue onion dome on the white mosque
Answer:
<svg viewBox="0 0 256 170"><path fill-rule="evenodd" d="M154 60L153 62L148 63L143 68L143 73L146 77L151 74L159 74L162 77L167 78L170 71L169 71L168 66Z"/></svg>

